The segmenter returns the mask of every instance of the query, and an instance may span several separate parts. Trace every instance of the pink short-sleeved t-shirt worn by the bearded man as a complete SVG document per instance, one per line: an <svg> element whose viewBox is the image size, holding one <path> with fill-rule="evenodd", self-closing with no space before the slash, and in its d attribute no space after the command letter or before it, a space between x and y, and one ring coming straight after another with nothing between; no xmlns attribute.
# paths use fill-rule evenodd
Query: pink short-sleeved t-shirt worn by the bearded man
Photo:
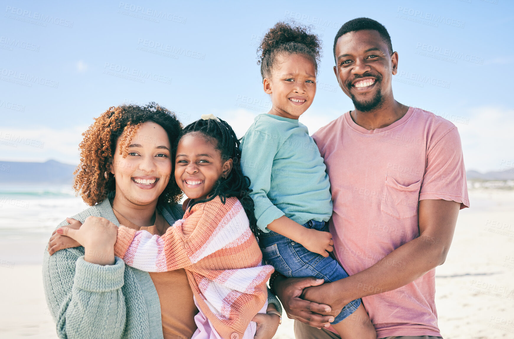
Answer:
<svg viewBox="0 0 514 339"><path fill-rule="evenodd" d="M461 209L469 206L457 128L431 112L409 107L400 120L375 130L357 125L346 112L313 138L331 182L330 231L336 255L350 275L419 236L419 200L453 200ZM431 270L406 286L362 298L378 338L440 336L434 275Z"/></svg>

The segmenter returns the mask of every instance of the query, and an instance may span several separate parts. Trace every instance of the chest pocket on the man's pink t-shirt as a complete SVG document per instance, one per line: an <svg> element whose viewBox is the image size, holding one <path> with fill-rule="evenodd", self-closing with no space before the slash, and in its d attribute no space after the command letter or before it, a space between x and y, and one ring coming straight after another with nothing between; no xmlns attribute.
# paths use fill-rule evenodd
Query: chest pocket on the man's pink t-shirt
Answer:
<svg viewBox="0 0 514 339"><path fill-rule="evenodd" d="M421 180L403 186L394 178L386 176L380 210L398 219L410 218L417 214Z"/></svg>

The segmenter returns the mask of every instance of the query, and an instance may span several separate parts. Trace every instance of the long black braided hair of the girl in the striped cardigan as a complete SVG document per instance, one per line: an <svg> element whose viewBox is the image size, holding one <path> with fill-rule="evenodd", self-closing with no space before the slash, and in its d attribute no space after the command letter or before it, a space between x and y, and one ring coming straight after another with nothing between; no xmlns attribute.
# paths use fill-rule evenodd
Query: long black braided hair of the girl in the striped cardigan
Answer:
<svg viewBox="0 0 514 339"><path fill-rule="evenodd" d="M219 121L218 121L219 120ZM250 179L243 174L241 170L241 150L239 149L240 141L237 139L234 130L230 125L222 120L208 119L208 120L197 120L187 125L177 139L176 147L180 139L190 133L201 133L208 139L215 140L214 147L221 153L222 161L232 159L232 171L226 179L219 178L214 185L210 196L207 199L197 200L190 204L190 209L193 205L200 202L211 201L215 197L219 197L223 203L227 198L236 197L239 199L245 213L250 221L250 229L253 233L257 232L257 222L253 214L253 200L250 197Z"/></svg>

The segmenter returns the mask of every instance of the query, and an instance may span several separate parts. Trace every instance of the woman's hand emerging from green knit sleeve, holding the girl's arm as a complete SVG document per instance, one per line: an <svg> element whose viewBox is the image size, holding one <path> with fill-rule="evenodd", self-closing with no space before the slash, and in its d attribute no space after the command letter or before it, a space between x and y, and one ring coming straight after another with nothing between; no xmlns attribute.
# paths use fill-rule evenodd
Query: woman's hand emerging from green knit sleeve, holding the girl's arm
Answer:
<svg viewBox="0 0 514 339"><path fill-rule="evenodd" d="M68 236L84 246L84 260L98 265L114 264L114 244L118 227L111 221L91 216L84 220L80 229L61 227L57 229L57 233Z"/></svg>

